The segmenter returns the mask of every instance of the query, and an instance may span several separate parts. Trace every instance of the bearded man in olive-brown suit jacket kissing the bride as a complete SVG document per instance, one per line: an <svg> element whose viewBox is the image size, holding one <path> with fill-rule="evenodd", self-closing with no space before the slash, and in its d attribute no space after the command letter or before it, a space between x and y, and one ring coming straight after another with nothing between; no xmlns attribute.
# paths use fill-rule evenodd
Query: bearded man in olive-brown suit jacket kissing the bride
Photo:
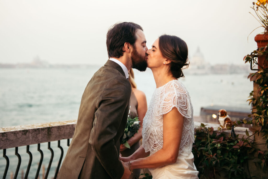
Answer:
<svg viewBox="0 0 268 179"><path fill-rule="evenodd" d="M88 82L72 142L58 178L128 178L119 160L129 112L128 70L147 68L146 39L140 25L123 22L107 33L109 60Z"/></svg>

